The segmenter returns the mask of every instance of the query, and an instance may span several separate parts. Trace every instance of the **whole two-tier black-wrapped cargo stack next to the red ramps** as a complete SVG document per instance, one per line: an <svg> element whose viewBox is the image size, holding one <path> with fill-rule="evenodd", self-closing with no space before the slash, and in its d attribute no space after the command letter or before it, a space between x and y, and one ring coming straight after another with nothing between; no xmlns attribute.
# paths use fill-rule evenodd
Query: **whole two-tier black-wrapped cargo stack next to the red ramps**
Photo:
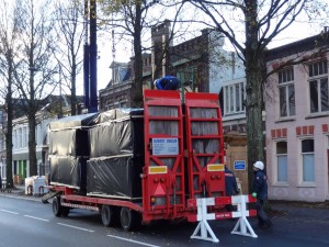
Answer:
<svg viewBox="0 0 329 247"><path fill-rule="evenodd" d="M87 193L133 200L141 195L144 112L115 109L100 113L89 130Z"/></svg>

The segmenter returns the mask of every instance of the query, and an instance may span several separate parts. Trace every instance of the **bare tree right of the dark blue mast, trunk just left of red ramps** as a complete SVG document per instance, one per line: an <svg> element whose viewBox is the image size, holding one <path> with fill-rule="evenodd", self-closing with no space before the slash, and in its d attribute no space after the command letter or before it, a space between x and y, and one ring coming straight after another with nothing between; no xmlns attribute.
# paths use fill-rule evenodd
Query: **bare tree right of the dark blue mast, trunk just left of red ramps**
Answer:
<svg viewBox="0 0 329 247"><path fill-rule="evenodd" d="M179 40L178 31L184 33L184 27L175 29L178 23L185 23L179 16L182 13L182 3L175 1L157 0L136 0L136 1L99 1L103 7L105 23L112 29L118 30L120 36L129 42L133 40L134 47L134 83L133 83L133 103L134 106L143 105L143 59L141 54L145 50L157 49L157 57L152 63L152 80L162 76L161 72L168 72L169 69L169 49L173 43L173 37ZM170 10L170 19L166 18L166 12ZM107 19L106 19L107 15ZM102 21L104 21L104 19ZM162 42L150 44L149 37L151 30L159 23L170 23L172 27ZM191 23L191 22L190 22ZM186 37L184 33L183 36ZM161 38L158 38L159 41ZM157 46L157 47L156 47ZM166 61L164 61L166 60ZM163 64L164 61L164 64ZM162 70L164 66L164 70Z"/></svg>

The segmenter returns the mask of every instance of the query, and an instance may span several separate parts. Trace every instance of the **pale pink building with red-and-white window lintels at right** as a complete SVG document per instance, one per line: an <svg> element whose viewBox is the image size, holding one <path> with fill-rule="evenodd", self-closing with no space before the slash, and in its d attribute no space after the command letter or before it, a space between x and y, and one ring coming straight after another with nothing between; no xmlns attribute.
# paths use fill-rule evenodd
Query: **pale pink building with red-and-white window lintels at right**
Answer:
<svg viewBox="0 0 329 247"><path fill-rule="evenodd" d="M273 89L265 101L270 199L329 200L329 53L311 58L328 41L328 32L305 38L271 50L268 59L268 67L277 69L287 60L310 58L269 80Z"/></svg>

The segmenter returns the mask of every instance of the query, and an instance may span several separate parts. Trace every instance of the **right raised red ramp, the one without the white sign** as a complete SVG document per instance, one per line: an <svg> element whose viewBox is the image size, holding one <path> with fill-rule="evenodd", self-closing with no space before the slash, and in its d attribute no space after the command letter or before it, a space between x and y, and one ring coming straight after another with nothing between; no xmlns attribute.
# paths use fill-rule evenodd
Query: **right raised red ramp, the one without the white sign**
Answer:
<svg viewBox="0 0 329 247"><path fill-rule="evenodd" d="M197 109L214 110L215 115L192 116L192 111ZM193 123L215 123L217 132L211 134L193 134ZM224 136L222 125L222 113L218 96L215 93L185 93L185 126L186 126L186 148L188 148L188 170L189 170L189 193L190 198L214 198L225 195L225 171L224 171ZM193 148L193 142L217 141L219 146L215 153L198 153ZM200 159L209 159L202 166ZM222 165L219 165L222 164ZM215 165L215 169L209 169L209 165ZM218 169L219 168L219 169Z"/></svg>

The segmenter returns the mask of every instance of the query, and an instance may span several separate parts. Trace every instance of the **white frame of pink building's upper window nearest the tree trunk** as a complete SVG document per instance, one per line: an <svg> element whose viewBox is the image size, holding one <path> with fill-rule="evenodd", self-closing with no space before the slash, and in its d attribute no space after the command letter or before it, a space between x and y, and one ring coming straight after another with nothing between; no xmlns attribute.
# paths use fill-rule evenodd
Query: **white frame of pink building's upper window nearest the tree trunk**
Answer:
<svg viewBox="0 0 329 247"><path fill-rule="evenodd" d="M296 115L296 105L295 105L295 82L294 82L294 67L290 67L286 69L282 69L277 71L277 90L279 90L279 116L280 119L284 117L291 117ZM293 104L290 101L290 89L293 88L294 91L294 100ZM281 102L281 90L284 90L285 92L285 99L283 102ZM282 115L282 106L285 105L285 113L286 115ZM294 112L293 112L294 109Z"/></svg>

